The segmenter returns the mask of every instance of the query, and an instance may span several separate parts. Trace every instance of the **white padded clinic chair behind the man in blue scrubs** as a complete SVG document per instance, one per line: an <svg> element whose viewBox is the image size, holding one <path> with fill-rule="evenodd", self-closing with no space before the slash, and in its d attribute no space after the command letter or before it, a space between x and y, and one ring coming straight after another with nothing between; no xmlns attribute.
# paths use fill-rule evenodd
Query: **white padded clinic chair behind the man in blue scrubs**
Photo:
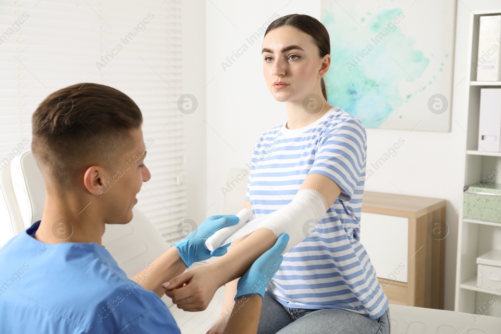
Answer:
<svg viewBox="0 0 501 334"><path fill-rule="evenodd" d="M14 158L0 170L0 247L10 238L42 218L45 184L31 151ZM146 216L136 207L125 225L107 225L103 245L129 278L164 253L169 245ZM194 265L203 264L202 262ZM224 286L219 288L207 309L185 312L164 295L162 300L174 315L183 334L205 333L219 316Z"/></svg>

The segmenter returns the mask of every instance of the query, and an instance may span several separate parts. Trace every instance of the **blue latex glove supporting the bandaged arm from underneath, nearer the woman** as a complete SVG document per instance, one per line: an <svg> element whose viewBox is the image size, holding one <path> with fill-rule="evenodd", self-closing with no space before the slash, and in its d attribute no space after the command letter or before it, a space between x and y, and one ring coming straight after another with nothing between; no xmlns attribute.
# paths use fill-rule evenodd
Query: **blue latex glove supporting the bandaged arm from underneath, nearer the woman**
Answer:
<svg viewBox="0 0 501 334"><path fill-rule="evenodd" d="M280 264L284 259L281 255L287 243L289 242L289 234L282 234L275 245L263 253L250 268L240 277L236 285L236 298L245 294L259 293L265 300L265 291L268 283L272 280L273 275L280 268Z"/></svg>

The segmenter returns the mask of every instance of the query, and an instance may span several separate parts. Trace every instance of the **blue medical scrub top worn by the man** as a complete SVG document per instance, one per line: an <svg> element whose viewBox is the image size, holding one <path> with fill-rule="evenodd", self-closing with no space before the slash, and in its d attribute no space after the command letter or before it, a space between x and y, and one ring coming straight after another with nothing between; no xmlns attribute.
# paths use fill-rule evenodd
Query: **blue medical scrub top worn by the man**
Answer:
<svg viewBox="0 0 501 334"><path fill-rule="evenodd" d="M164 302L104 247L38 241L39 225L0 248L0 333L180 333Z"/></svg>

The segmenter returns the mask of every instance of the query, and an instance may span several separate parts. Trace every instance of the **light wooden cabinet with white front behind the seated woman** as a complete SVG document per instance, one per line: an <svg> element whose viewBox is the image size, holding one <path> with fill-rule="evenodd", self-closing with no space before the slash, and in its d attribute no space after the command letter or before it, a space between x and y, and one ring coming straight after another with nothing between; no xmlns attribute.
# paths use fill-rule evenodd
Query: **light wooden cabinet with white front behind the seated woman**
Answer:
<svg viewBox="0 0 501 334"><path fill-rule="evenodd" d="M444 199L366 191L360 242L392 304L443 309Z"/></svg>

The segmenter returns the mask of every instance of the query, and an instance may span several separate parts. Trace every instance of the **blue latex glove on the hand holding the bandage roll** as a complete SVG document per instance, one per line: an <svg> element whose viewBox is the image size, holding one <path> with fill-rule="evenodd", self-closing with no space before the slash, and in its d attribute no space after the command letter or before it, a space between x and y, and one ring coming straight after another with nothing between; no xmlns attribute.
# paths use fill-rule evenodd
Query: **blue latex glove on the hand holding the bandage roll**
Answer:
<svg viewBox="0 0 501 334"><path fill-rule="evenodd" d="M186 238L174 243L173 246L177 248L187 267L190 267L194 262L203 261L212 256L224 255L228 251L226 248L230 245L229 243L214 249L214 251L209 251L205 247L205 239L217 230L236 223L238 223L238 217L234 214L210 216Z"/></svg>

